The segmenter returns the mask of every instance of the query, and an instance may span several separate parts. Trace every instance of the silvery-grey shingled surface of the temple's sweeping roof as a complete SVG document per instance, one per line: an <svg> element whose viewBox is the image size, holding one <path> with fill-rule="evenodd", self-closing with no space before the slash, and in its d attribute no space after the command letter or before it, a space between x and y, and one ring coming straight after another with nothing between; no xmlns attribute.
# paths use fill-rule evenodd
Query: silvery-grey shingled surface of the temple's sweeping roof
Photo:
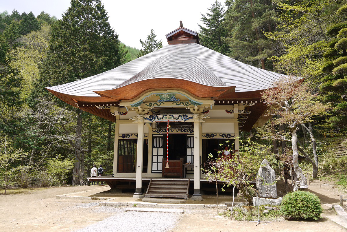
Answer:
<svg viewBox="0 0 347 232"><path fill-rule="evenodd" d="M247 92L270 88L281 77L283 74L244 64L197 43L187 43L167 45L109 71L46 89L98 97L93 91L154 78L176 78L213 87L235 86L235 92Z"/></svg>

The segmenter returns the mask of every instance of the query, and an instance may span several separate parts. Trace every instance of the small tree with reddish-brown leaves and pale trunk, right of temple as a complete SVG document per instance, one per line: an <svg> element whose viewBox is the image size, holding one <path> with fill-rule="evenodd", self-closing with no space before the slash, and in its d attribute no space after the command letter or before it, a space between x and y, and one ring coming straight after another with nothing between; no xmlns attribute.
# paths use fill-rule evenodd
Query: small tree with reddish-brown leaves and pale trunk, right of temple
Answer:
<svg viewBox="0 0 347 232"><path fill-rule="evenodd" d="M261 93L264 104L269 106L268 115L276 115L272 121L274 125L287 125L291 139L283 136L283 141L291 142L293 151L293 167L297 177L294 190L307 189L306 177L298 165L298 145L297 127L312 121L313 116L322 115L327 106L317 100L316 96L310 92L308 85L301 84L291 78L283 78L275 82L272 88ZM315 159L318 162L318 159ZM318 169L318 163L313 163Z"/></svg>

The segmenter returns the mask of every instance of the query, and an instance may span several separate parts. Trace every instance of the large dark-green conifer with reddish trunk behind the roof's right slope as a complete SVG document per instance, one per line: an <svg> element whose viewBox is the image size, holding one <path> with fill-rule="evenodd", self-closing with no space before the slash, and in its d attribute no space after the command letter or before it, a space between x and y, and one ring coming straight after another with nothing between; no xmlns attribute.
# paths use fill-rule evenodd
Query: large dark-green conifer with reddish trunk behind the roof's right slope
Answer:
<svg viewBox="0 0 347 232"><path fill-rule="evenodd" d="M227 0L226 6L231 56L262 69L273 69L272 61L267 58L276 55L276 46L263 33L277 30L272 2Z"/></svg>

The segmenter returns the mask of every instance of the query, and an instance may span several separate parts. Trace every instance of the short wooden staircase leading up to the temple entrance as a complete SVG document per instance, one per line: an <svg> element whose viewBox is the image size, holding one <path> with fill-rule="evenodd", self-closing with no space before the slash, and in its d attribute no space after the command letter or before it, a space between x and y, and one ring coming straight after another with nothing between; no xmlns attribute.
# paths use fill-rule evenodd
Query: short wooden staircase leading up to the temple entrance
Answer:
<svg viewBox="0 0 347 232"><path fill-rule="evenodd" d="M188 198L190 180L150 180L145 198Z"/></svg>

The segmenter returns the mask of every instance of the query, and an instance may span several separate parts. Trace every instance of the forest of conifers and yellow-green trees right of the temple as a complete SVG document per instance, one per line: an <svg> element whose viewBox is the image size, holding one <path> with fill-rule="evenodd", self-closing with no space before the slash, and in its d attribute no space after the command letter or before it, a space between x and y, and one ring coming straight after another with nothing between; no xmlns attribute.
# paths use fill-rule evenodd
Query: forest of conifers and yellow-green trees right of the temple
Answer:
<svg viewBox="0 0 347 232"><path fill-rule="evenodd" d="M307 94L313 96L310 102L324 111L295 126L298 150L307 160L307 166L304 161L302 166L307 174L313 168L313 177L339 173L338 178L346 182L347 158L336 159L335 154L346 146L346 1L227 0L225 4L226 8L216 0L202 14L201 44L249 65L305 77ZM310 102L296 110L307 110ZM282 159L294 152L288 147L293 142L288 136L290 125L278 123L285 117L278 110L273 115L271 123L250 136L271 144ZM331 137L339 138L340 150L330 145Z"/></svg>

